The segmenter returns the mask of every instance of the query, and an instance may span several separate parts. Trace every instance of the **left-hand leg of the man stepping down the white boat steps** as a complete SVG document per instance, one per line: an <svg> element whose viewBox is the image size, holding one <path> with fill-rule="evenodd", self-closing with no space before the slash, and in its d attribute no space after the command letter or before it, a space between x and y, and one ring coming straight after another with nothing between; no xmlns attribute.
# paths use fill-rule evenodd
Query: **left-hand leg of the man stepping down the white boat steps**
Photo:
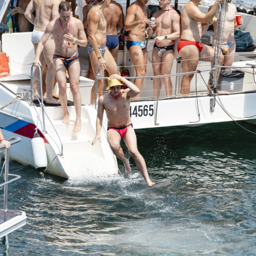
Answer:
<svg viewBox="0 0 256 256"><path fill-rule="evenodd" d="M53 60L54 70L58 82L59 87L59 101L61 104L61 108L63 110L63 120L64 124L69 124L69 112L67 106L67 81L66 81L66 67L60 59Z"/></svg>

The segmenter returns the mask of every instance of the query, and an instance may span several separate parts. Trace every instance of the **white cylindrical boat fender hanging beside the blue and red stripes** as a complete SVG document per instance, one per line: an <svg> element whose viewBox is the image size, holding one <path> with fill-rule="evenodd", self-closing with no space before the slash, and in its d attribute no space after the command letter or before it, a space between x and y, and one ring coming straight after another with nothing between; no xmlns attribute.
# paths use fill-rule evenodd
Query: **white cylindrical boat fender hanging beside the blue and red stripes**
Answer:
<svg viewBox="0 0 256 256"><path fill-rule="evenodd" d="M44 169L47 167L47 156L45 141L38 133L35 133L32 140L32 154L35 169Z"/></svg>

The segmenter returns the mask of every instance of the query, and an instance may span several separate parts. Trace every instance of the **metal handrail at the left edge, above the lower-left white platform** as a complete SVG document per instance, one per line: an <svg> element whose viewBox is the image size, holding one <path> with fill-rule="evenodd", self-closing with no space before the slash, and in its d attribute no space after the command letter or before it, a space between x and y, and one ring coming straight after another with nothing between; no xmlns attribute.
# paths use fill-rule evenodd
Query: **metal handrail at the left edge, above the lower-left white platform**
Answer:
<svg viewBox="0 0 256 256"><path fill-rule="evenodd" d="M18 142L21 141L20 137L11 137L10 139L8 139L8 141L11 142L11 145L16 144ZM4 145L0 147L0 149L4 148ZM4 172L4 180L5 182L0 184L0 187L4 186L4 211L7 211L7 201L8 201L8 184L11 182L14 182L16 180L19 180L20 175L16 175L16 174L9 174L9 148L6 148L6 154L5 154L5 172ZM11 177L16 177L12 180L8 181L8 176Z"/></svg>

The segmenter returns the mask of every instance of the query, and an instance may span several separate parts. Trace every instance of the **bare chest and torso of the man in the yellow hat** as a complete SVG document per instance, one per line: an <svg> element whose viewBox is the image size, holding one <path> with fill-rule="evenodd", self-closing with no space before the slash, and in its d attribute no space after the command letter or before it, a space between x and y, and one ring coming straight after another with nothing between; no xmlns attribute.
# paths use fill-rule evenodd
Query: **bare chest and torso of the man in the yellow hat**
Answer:
<svg viewBox="0 0 256 256"><path fill-rule="evenodd" d="M110 91L103 95L103 106L108 117L108 126L120 127L130 124L130 97L127 96L129 89L121 90L121 95L116 100Z"/></svg>

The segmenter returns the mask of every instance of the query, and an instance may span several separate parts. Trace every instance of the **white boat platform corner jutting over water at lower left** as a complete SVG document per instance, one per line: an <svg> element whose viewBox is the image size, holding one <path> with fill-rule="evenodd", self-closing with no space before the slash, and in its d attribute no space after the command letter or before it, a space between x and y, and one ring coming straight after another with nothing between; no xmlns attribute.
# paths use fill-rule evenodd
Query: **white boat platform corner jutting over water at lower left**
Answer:
<svg viewBox="0 0 256 256"><path fill-rule="evenodd" d="M0 238L24 226L26 220L24 211L0 210Z"/></svg>

